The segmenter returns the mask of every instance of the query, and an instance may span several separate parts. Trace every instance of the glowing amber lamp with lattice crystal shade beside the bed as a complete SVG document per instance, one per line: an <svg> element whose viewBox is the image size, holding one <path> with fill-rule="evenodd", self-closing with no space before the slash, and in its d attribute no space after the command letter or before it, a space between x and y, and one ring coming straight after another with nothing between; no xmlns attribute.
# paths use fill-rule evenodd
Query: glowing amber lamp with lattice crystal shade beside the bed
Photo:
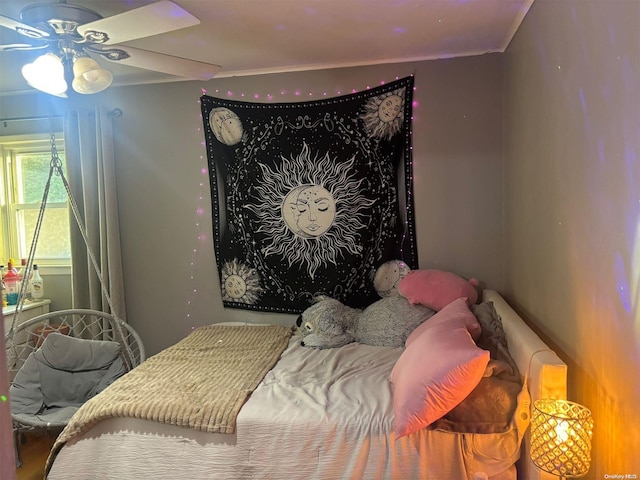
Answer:
<svg viewBox="0 0 640 480"><path fill-rule="evenodd" d="M560 478L583 477L591 465L593 419L588 408L566 400L533 402L531 461Z"/></svg>

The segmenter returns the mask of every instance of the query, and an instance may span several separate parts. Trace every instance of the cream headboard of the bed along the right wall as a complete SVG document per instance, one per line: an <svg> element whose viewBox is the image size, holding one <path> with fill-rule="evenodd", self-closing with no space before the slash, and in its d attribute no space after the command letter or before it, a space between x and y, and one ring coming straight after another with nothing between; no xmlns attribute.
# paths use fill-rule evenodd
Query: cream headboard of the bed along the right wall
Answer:
<svg viewBox="0 0 640 480"><path fill-rule="evenodd" d="M485 290L485 302L493 306L502 318L509 352L522 375L527 374L531 402L540 398L567 398L567 365L538 337L522 318L495 290ZM522 443L517 463L520 480L554 480L557 477L538 470L529 456L529 431Z"/></svg>

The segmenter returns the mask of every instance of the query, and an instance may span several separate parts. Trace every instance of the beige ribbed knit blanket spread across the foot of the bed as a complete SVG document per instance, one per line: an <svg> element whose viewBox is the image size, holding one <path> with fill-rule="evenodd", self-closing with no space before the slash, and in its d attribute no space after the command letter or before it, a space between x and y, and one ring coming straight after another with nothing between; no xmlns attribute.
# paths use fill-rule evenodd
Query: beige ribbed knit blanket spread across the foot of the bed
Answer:
<svg viewBox="0 0 640 480"><path fill-rule="evenodd" d="M251 392L287 347L291 327L209 325L149 358L86 402L57 438L64 443L110 417L234 433Z"/></svg>

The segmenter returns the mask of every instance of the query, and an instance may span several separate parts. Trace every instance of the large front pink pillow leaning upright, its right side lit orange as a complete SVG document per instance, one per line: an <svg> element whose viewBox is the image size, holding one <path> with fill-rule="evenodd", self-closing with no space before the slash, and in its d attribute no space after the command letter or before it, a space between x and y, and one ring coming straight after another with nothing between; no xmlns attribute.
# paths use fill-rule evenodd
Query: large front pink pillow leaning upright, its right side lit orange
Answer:
<svg viewBox="0 0 640 480"><path fill-rule="evenodd" d="M480 383L488 363L489 351L476 346L461 318L440 321L413 338L391 372L396 438L453 410Z"/></svg>

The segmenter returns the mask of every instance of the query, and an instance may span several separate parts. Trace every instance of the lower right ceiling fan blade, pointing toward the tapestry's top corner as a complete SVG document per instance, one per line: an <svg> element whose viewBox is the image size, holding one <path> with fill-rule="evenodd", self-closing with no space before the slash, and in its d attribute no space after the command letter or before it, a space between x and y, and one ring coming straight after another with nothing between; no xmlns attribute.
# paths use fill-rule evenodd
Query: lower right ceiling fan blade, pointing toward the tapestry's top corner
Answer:
<svg viewBox="0 0 640 480"><path fill-rule="evenodd" d="M210 80L222 69L220 65L212 63L174 57L173 55L150 52L125 45L118 45L118 50L124 51L129 57L122 60L114 60L107 56L107 50L101 52L98 49L91 49L92 52L98 53L114 63L168 73L169 75L177 75L178 77L192 80Z"/></svg>

